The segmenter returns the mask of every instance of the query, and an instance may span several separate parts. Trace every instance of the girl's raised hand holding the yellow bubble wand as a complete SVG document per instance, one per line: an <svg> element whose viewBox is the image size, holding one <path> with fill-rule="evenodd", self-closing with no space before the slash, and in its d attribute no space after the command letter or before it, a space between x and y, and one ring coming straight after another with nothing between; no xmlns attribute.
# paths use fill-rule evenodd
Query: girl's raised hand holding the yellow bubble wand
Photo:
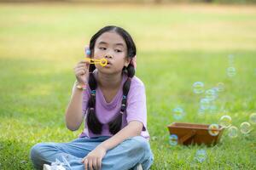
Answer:
<svg viewBox="0 0 256 170"><path fill-rule="evenodd" d="M90 55L86 54L86 57L90 58ZM83 59L73 68L75 77L77 78L77 81L81 84L86 83L89 73L89 65L90 61Z"/></svg>

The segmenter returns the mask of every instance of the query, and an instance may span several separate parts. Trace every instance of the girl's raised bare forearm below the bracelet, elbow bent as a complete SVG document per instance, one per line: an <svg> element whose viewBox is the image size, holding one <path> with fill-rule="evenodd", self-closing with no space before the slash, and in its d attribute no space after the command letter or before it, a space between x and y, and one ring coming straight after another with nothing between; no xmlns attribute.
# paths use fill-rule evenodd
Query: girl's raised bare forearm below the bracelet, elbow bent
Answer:
<svg viewBox="0 0 256 170"><path fill-rule="evenodd" d="M82 111L83 90L76 87L77 82L73 85L73 93L66 110L66 126L68 129L78 130L84 119Z"/></svg>

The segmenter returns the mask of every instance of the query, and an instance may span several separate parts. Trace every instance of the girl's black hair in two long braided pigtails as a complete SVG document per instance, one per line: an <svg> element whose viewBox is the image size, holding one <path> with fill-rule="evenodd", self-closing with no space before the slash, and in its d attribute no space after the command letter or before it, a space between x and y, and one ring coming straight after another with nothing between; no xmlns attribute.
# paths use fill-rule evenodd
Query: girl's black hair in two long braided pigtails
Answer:
<svg viewBox="0 0 256 170"><path fill-rule="evenodd" d="M100 37L103 33L114 31L119 34L119 36L123 37L127 47L127 57L133 58L137 53L136 45L133 42L131 35L125 31L123 28L119 26L105 26L101 30L97 31L96 34L90 38L90 51L91 54L94 54L94 47L98 37ZM92 133L100 134L102 133L102 122L99 121L96 116L96 88L97 82L96 78L93 75L93 71L96 69L95 65L90 65L89 67L89 86L90 86L90 99L88 101L88 111L87 111L87 125ZM123 68L123 73L127 75L127 80L123 85L123 97L121 108L116 117L113 117L113 120L108 122L109 132L112 134L118 133L122 126L123 114L125 113L127 106L127 95L129 93L131 78L135 75L134 66L131 63Z"/></svg>

